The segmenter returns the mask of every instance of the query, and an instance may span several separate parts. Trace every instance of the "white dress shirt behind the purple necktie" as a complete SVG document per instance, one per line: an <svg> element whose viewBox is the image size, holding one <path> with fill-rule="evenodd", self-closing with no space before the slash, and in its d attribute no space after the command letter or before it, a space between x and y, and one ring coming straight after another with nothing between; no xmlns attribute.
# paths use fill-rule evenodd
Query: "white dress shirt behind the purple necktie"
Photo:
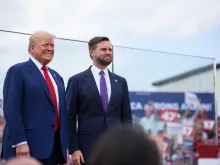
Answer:
<svg viewBox="0 0 220 165"><path fill-rule="evenodd" d="M92 66L91 67L91 71L92 71L92 74L93 74L93 77L95 79L95 82L96 82L96 85L97 85L97 88L98 88L98 91L99 91L99 94L100 94L100 79L101 79L101 75L99 74L101 69L97 68L96 66ZM105 73L104 74L104 77L105 77L105 81L106 81L106 85L107 85L107 92L108 92L108 102L110 100L110 97L111 97L111 82L110 82L110 78L109 78L109 73L108 73L108 69L104 69L103 72Z"/></svg>

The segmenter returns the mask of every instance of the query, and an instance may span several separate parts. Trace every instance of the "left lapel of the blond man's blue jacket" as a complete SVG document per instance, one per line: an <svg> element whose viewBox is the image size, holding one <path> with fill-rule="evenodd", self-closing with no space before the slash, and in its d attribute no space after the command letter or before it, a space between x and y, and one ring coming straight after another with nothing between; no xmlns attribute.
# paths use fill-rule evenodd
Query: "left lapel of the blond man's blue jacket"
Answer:
<svg viewBox="0 0 220 165"><path fill-rule="evenodd" d="M51 95L50 95L50 91L48 89L47 83L43 77L43 75L41 74L41 72L39 71L39 69L37 68L37 66L34 64L33 61L29 60L28 61L29 64L29 70L33 73L33 75L36 77L36 79L38 80L38 82L40 83L40 85L42 86L42 88L44 89L47 97L49 98L49 100L51 101L51 103L53 104Z"/></svg>

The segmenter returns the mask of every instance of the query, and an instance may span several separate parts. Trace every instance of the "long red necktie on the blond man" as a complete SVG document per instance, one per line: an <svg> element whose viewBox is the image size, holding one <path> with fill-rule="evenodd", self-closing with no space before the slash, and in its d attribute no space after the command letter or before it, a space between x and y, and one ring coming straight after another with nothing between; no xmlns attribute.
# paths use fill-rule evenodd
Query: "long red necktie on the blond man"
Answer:
<svg viewBox="0 0 220 165"><path fill-rule="evenodd" d="M56 131L58 129L58 127L59 127L59 117L58 117L58 106L57 106L56 92L55 92L53 83L52 83L52 81L51 81L51 79L49 77L47 67L45 65L42 67L42 70L44 71L44 77L45 77L45 80L46 80L47 86L49 88L50 95L52 97L53 104L54 104L54 107L55 107L56 119L55 119L54 129Z"/></svg>

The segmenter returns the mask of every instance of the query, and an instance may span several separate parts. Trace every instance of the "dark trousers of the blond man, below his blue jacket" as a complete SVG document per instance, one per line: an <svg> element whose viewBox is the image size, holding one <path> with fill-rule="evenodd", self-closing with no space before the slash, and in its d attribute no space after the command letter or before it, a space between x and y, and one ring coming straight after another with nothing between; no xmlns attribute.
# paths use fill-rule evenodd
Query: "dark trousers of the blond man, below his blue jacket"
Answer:
<svg viewBox="0 0 220 165"><path fill-rule="evenodd" d="M61 142L60 142L60 129L55 132L53 151L49 158L39 160L43 165L57 165L65 164L66 161L63 157Z"/></svg>

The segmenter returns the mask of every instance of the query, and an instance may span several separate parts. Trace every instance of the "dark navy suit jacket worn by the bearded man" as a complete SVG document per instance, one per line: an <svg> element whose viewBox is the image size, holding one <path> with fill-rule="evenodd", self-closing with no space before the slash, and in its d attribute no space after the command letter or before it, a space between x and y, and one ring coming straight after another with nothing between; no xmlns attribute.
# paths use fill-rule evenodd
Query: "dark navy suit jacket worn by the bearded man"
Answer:
<svg viewBox="0 0 220 165"><path fill-rule="evenodd" d="M131 124L131 108L127 82L109 72L111 97L105 112L91 68L72 76L67 85L70 153L81 150L88 158L94 143L108 128ZM78 130L76 121L78 119Z"/></svg>

